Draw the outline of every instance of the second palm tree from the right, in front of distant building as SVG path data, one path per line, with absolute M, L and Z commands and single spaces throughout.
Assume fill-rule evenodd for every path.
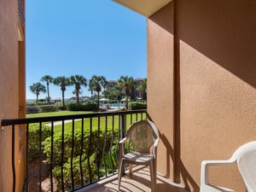
M 125 92 L 125 108 L 128 109 L 128 96 L 130 96 L 135 81 L 132 77 L 121 76 L 120 79 L 118 79 L 118 85 Z

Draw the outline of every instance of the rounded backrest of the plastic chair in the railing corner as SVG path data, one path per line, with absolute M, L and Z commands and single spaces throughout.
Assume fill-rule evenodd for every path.
M 153 122 L 140 120 L 130 126 L 126 137 L 131 139 L 135 151 L 149 153 L 154 142 L 158 141 L 159 133 Z

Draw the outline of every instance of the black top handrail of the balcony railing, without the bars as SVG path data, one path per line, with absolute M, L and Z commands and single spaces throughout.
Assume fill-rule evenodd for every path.
M 138 109 L 138 110 L 124 110 L 124 111 L 113 111 L 113 112 L 96 112 L 96 113 L 84 113 L 84 114 L 66 114 L 59 116 L 47 116 L 47 117 L 34 117 L 34 118 L 20 118 L 20 119 L 2 119 L 1 125 L 23 125 L 31 123 L 42 123 L 47 121 L 58 121 L 58 120 L 67 120 L 67 119 L 84 119 L 84 118 L 93 118 L 93 117 L 105 117 L 119 114 L 130 114 L 130 113 L 147 113 L 147 109 Z

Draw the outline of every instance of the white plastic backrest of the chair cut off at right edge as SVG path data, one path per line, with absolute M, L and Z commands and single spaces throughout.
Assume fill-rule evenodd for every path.
M 238 151 L 241 149 L 240 151 Z M 237 166 L 248 192 L 256 191 L 256 142 L 247 143 L 238 148 Z M 235 152 L 236 153 L 236 152 Z

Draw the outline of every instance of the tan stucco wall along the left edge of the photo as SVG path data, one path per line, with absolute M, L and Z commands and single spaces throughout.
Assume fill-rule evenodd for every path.
M 18 21 L 17 1 L 0 0 L 0 121 L 18 118 L 19 106 L 24 107 L 20 117 L 25 113 L 25 42 L 19 45 Z M 24 153 L 19 150 L 19 128 L 15 130 L 16 191 L 21 191 Z M 11 138 L 11 127 L 4 127 L 0 131 L 0 191 L 12 191 Z

